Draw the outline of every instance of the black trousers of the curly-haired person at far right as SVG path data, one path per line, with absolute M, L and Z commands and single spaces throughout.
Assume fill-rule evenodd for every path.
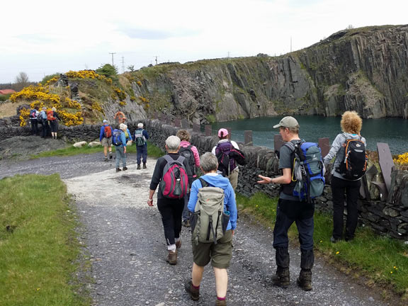
M 344 202 L 347 202 L 346 239 L 353 239 L 358 222 L 357 201 L 361 181 L 347 181 L 331 176 L 333 195 L 333 237 L 341 239 L 344 229 Z

